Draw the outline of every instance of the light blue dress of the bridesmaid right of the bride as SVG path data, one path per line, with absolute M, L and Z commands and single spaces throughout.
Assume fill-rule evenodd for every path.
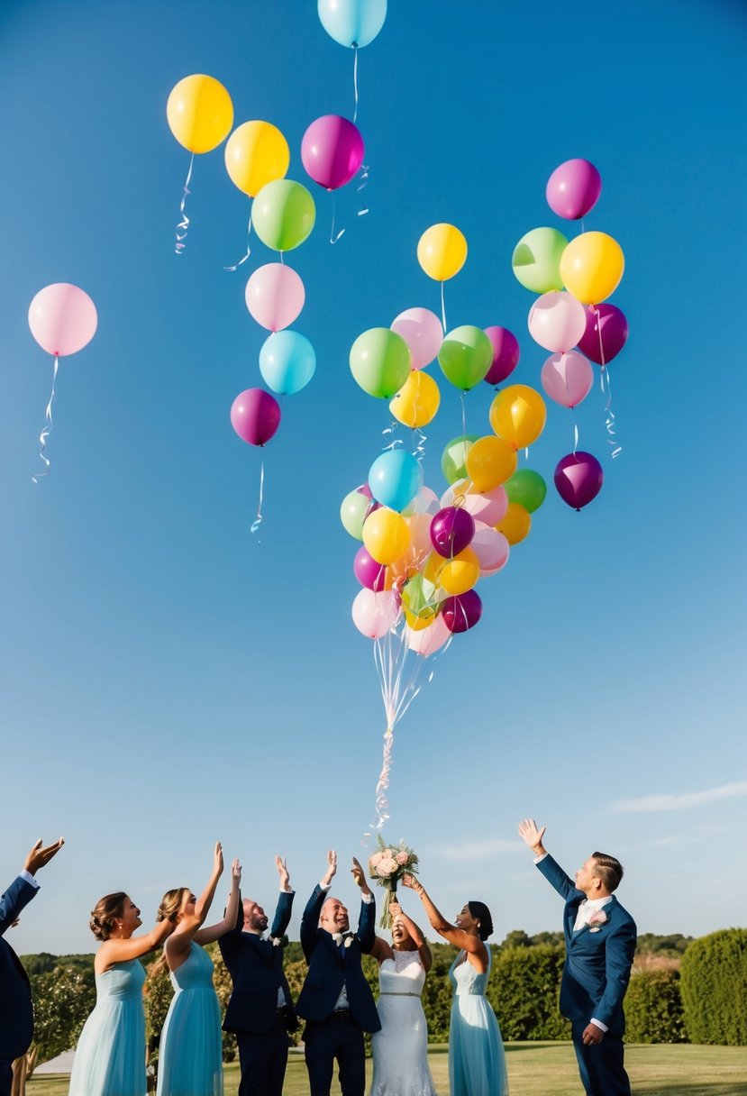
M 491 973 L 479 974 L 460 951 L 451 964 L 453 985 L 451 1026 L 449 1028 L 449 1088 L 451 1096 L 507 1096 L 508 1076 L 501 1028 L 485 997 Z M 463 961 L 462 961 L 463 960 Z

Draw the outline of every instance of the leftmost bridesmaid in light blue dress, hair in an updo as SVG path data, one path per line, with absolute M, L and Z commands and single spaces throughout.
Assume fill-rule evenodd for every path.
M 159 947 L 173 925 L 160 922 L 133 936 L 142 922 L 125 894 L 106 894 L 91 914 L 102 941 L 93 967 L 96 1006 L 81 1031 L 70 1075 L 70 1096 L 146 1096 L 146 1021 L 140 956 Z

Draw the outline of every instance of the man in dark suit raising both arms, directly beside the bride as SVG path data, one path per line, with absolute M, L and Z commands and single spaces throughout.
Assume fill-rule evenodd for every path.
M 373 994 L 360 968 L 376 939 L 376 903 L 364 869 L 353 859 L 360 888 L 358 932 L 350 931 L 347 910 L 327 892 L 337 870 L 337 854 L 327 853 L 327 870 L 314 888 L 301 918 L 301 947 L 309 973 L 298 997 L 311 1096 L 329 1096 L 334 1061 L 343 1096 L 364 1096 L 366 1053 L 364 1031 L 381 1028 Z

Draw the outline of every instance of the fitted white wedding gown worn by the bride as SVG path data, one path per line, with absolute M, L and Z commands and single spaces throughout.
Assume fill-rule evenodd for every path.
M 379 967 L 377 1008 L 381 1030 L 372 1037 L 370 1096 L 435 1096 L 428 1069 L 428 1027 L 421 1004 L 425 970 L 417 951 L 394 951 Z

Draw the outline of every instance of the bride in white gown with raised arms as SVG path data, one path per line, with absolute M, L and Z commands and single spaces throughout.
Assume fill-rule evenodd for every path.
M 428 1026 L 421 993 L 433 961 L 430 948 L 399 903 L 390 902 L 392 943 L 377 936 L 381 1030 L 372 1037 L 370 1096 L 436 1096 L 428 1069 Z

